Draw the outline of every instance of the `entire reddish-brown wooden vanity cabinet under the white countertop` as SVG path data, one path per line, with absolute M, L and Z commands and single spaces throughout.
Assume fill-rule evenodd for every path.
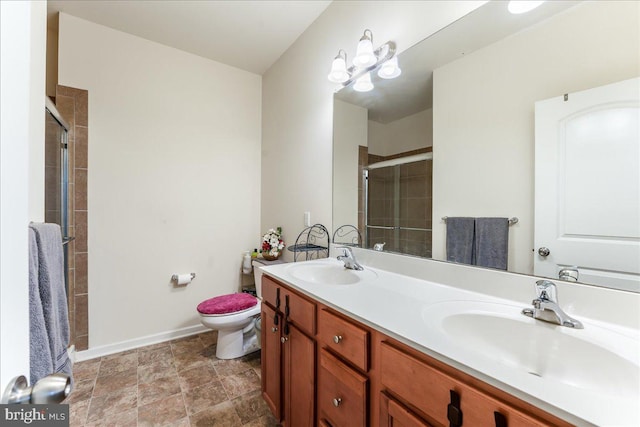
M 284 426 L 570 425 L 268 276 L 262 295 L 262 394 Z

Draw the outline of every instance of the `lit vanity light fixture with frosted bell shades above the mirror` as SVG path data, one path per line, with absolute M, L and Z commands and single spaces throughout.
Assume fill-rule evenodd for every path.
M 340 49 L 327 77 L 330 82 L 342 83 L 342 86 L 349 86 L 355 82 L 354 90 L 368 92 L 373 89 L 372 71 L 378 70 L 378 76 L 383 79 L 393 79 L 402 74 L 395 53 L 396 44 L 391 41 L 374 50 L 373 33 L 371 30 L 364 30 L 356 49 L 353 65 L 347 68 L 347 53 Z

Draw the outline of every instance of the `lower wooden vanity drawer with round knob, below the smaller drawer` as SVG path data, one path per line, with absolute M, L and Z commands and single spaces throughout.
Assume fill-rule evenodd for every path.
M 367 378 L 324 349 L 318 369 L 318 411 L 333 427 L 366 426 Z

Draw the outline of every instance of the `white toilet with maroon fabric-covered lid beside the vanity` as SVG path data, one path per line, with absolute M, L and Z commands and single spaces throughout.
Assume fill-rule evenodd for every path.
M 218 331 L 216 357 L 235 359 L 260 350 L 256 320 L 260 316 L 262 297 L 262 269 L 265 265 L 282 261 L 253 260 L 253 277 L 257 298 L 247 293 L 220 295 L 198 304 L 200 321 L 207 328 Z

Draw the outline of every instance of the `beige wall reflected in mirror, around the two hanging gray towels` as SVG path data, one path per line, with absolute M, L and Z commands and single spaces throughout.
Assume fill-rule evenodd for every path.
M 639 74 L 638 2 L 585 2 L 434 73 L 434 258 L 443 216 L 516 216 L 509 270 L 533 271 L 534 102 Z

